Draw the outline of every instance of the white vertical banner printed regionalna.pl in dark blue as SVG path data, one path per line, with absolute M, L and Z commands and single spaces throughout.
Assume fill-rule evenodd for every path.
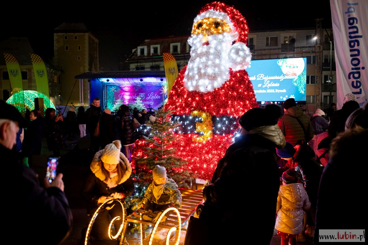
M 336 57 L 337 108 L 353 93 L 363 105 L 368 93 L 368 1 L 330 0 Z

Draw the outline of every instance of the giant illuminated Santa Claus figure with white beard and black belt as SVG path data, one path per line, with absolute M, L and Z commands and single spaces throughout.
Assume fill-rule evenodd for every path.
M 210 179 L 238 129 L 237 118 L 258 107 L 245 71 L 251 53 L 248 26 L 239 11 L 213 2 L 194 19 L 191 58 L 179 73 L 164 109 L 174 111 L 181 133 L 171 147 L 187 168 Z

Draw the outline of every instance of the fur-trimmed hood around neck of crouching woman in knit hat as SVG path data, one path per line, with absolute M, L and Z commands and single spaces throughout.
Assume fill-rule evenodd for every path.
M 123 169 L 125 171 L 123 178 L 121 180 L 118 180 L 117 176 L 105 181 L 105 176 L 102 173 L 101 167 L 102 166 L 102 161 L 101 161 L 101 156 L 103 154 L 104 150 L 100 150 L 98 152 L 96 152 L 95 156 L 92 159 L 92 163 L 91 163 L 91 170 L 92 173 L 95 174 L 95 176 L 105 182 L 107 184 L 107 186 L 109 186 L 110 188 L 113 188 L 115 186 L 117 186 L 118 184 L 124 183 L 129 177 L 130 174 L 132 173 L 132 167 L 130 166 L 130 162 L 129 160 L 124 156 L 124 154 L 122 152 L 120 152 L 120 163 L 123 165 Z

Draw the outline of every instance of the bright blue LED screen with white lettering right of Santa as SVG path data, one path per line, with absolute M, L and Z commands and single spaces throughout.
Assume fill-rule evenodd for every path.
M 305 101 L 307 59 L 253 60 L 247 68 L 257 101 Z

